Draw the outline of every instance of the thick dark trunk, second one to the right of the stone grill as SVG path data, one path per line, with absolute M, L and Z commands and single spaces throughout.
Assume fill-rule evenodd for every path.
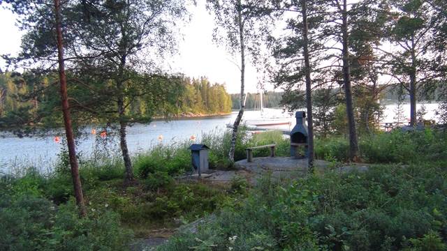
M 342 11 L 342 36 L 343 36 L 343 82 L 346 95 L 346 114 L 348 115 L 349 127 L 349 149 L 351 150 L 351 161 L 360 162 L 360 149 L 356 132 L 356 120 L 354 119 L 353 98 L 351 89 L 351 69 L 349 66 L 349 45 L 348 45 L 348 8 L 346 1 L 343 1 Z

